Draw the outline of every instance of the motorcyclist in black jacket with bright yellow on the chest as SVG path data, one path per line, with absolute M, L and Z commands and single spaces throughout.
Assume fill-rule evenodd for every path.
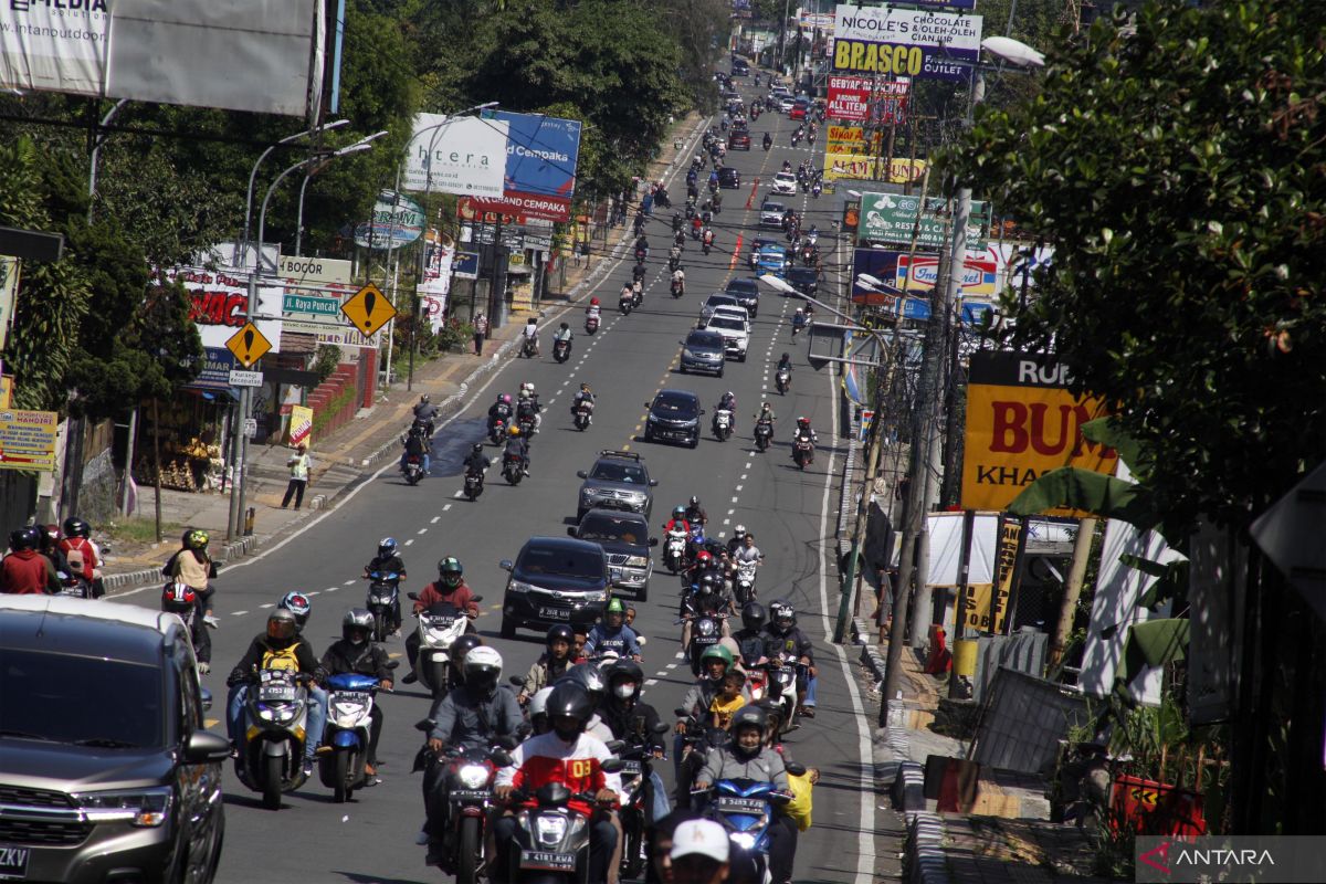
M 273 608 L 267 615 L 267 631 L 253 636 L 240 661 L 235 664 L 225 687 L 229 696 L 225 701 L 225 733 L 231 740 L 231 755 L 239 758 L 240 738 L 244 718 L 244 702 L 248 698 L 249 680 L 259 669 L 294 669 L 300 675 L 317 679 L 321 675 L 318 659 L 313 648 L 300 635 L 294 615 L 285 608 Z M 326 725 L 326 694 L 322 700 L 310 692 L 308 705 L 308 730 L 304 741 L 304 777 L 313 775 L 313 757 Z

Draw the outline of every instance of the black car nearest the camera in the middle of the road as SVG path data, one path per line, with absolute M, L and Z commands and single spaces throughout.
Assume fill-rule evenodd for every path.
M 514 639 L 516 630 L 546 630 L 554 623 L 582 626 L 598 622 L 611 591 L 603 547 L 565 537 L 532 537 L 516 562 L 503 559 L 511 571 L 501 600 L 501 637 Z

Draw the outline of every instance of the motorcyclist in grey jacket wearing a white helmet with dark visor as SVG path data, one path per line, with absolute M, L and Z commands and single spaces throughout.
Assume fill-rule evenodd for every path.
M 434 701 L 428 712 L 428 749 L 440 754 L 450 746 L 488 749 L 496 741 L 514 741 L 525 718 L 516 694 L 499 685 L 501 655 L 496 648 L 477 647 L 465 655 L 464 684 Z M 431 763 L 423 777 L 423 803 L 427 812 L 424 835 L 434 865 L 443 860 L 443 839 L 448 824 L 450 802 L 446 790 L 446 765 Z

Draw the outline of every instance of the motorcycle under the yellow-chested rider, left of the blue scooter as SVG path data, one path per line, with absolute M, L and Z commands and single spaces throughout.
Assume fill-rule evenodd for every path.
M 289 669 L 260 669 L 251 680 L 235 774 L 263 806 L 281 808 L 281 793 L 304 785 L 304 740 L 313 676 Z

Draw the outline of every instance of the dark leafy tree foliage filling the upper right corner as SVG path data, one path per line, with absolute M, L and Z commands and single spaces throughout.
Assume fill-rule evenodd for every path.
M 1055 247 L 1009 343 L 1154 455 L 1171 518 L 1246 524 L 1326 451 L 1326 7 L 1142 5 L 1050 48 L 952 166 Z

